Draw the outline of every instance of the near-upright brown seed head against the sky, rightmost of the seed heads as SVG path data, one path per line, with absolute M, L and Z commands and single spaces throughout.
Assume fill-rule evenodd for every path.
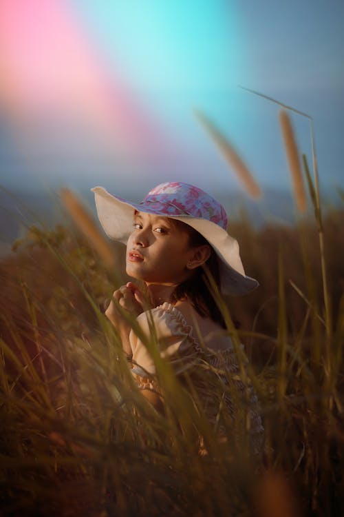
M 299 152 L 297 150 L 297 142 L 294 136 L 294 130 L 292 129 L 292 123 L 286 110 L 280 110 L 279 123 L 281 125 L 284 146 L 286 148 L 297 209 L 299 212 L 305 212 L 307 208 L 307 200 L 305 197 L 305 187 L 303 185 Z

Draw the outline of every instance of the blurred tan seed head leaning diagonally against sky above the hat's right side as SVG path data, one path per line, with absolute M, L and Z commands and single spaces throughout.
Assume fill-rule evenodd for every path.
M 248 170 L 246 163 L 241 159 L 239 154 L 234 150 L 233 146 L 224 138 L 215 125 L 199 110 L 195 110 L 197 120 L 202 124 L 206 132 L 211 136 L 219 150 L 222 152 L 224 159 L 235 170 L 239 181 L 244 185 L 246 192 L 252 198 L 261 196 L 261 190 L 257 182 Z

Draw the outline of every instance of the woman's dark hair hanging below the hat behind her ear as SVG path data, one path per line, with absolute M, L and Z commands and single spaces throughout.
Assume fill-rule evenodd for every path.
M 188 232 L 189 243 L 192 247 L 202 246 L 204 244 L 208 244 L 211 247 L 204 236 L 190 225 L 182 221 L 177 221 L 176 219 L 170 219 L 170 221 L 172 221 L 173 225 Z M 219 263 L 213 247 L 211 247 L 211 256 L 209 256 L 205 265 L 215 283 L 219 285 Z M 193 276 L 175 287 L 175 290 L 171 294 L 170 302 L 175 303 L 178 300 L 182 300 L 182 298 L 188 298 L 200 316 L 209 317 L 215 321 L 215 323 L 219 323 L 223 328 L 226 328 L 224 316 L 222 316 L 222 312 L 219 310 L 219 307 L 217 307 L 217 303 L 211 294 L 211 290 L 208 287 L 208 280 L 202 266 L 197 267 Z

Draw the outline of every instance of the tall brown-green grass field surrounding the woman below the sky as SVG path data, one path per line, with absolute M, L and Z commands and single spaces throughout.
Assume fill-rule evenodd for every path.
M 164 365 L 165 416 L 138 392 L 103 316 L 122 248 L 109 272 L 72 228 L 32 227 L 0 264 L 1 514 L 343 515 L 343 215 L 323 220 L 330 318 L 314 223 L 231 225 L 261 284 L 227 300 L 261 401 L 259 459 L 221 415 L 219 443 Z

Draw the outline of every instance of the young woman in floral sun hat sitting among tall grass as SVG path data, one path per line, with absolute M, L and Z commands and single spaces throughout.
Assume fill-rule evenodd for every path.
M 233 422 L 238 401 L 247 400 L 250 393 L 248 427 L 257 451 L 263 432 L 257 398 L 240 378 L 233 342 L 208 281 L 210 274 L 222 294 L 244 294 L 258 285 L 245 275 L 237 241 L 226 231 L 224 207 L 186 183 L 162 183 L 138 204 L 112 196 L 103 187 L 92 190 L 105 232 L 127 244 L 127 274 L 146 287 L 142 292 L 134 282 L 123 285 L 114 292 L 105 313 L 120 332 L 142 394 L 160 409 L 155 361 L 142 339 L 153 332 L 160 356 L 175 374 L 194 378 L 198 398 L 211 422 L 219 412 L 219 401 L 213 400 L 211 386 L 207 393 L 204 384 L 209 377 L 200 375 L 204 372 L 200 365 L 209 365 L 208 372 L 215 372 L 224 388 L 230 384 L 235 389 L 234 398 L 229 389 L 224 390 L 226 410 Z M 141 338 L 118 305 L 137 316 Z M 193 375 L 195 372 L 198 375 Z

